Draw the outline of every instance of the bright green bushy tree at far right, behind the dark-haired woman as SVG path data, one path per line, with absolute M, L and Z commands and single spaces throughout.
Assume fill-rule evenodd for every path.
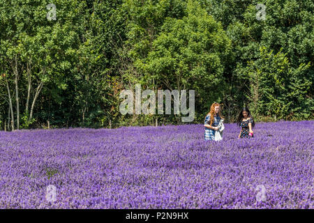
M 314 109 L 308 97 L 313 83 L 306 79 L 310 63 L 293 68 L 287 54 L 260 49 L 260 58 L 244 71 L 250 80 L 248 100 L 253 114 L 276 119 L 308 118 Z

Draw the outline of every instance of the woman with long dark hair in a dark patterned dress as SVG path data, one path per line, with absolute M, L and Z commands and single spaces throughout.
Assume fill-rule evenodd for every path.
M 255 123 L 253 117 L 251 116 L 251 112 L 250 110 L 248 110 L 247 107 L 244 107 L 240 112 L 237 123 L 241 127 L 239 139 L 244 137 L 246 138 L 253 137 L 252 129 L 254 128 Z

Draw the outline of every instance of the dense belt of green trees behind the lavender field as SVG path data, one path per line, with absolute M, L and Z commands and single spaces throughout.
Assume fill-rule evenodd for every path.
M 244 105 L 257 121 L 313 119 L 313 11 L 310 0 L 3 0 L 0 129 L 180 123 L 121 115 L 119 93 L 137 83 L 195 90 L 195 123 L 213 102 L 230 122 Z

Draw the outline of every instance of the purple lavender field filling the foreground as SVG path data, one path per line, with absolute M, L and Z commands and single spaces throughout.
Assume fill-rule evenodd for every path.
M 314 121 L 257 123 L 253 139 L 226 124 L 223 141 L 204 141 L 203 125 L 1 131 L 0 208 L 314 208 L 313 132 Z

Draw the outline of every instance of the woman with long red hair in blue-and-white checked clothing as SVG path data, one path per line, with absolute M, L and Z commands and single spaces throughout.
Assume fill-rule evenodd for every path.
M 207 116 L 205 117 L 205 140 L 215 140 L 215 133 L 218 131 L 218 124 L 223 121 L 223 116 L 220 114 L 220 105 L 213 103 Z

